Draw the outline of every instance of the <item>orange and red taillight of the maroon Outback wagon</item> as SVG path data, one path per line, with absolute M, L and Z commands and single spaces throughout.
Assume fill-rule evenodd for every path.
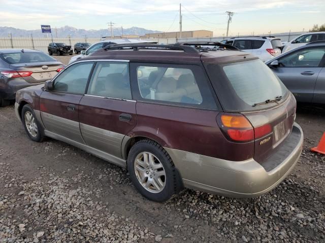
M 270 124 L 253 128 L 242 114 L 224 113 L 218 119 L 218 124 L 226 136 L 238 142 L 249 142 L 272 132 Z

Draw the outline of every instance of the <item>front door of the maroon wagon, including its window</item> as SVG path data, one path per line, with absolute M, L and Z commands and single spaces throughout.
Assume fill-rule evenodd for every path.
M 41 117 L 52 134 L 84 143 L 79 129 L 79 102 L 83 97 L 94 62 L 79 62 L 61 71 L 53 90 L 40 96 Z

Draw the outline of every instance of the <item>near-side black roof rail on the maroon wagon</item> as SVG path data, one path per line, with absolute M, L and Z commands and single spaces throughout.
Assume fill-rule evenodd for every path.
M 182 50 L 186 53 L 199 53 L 199 51 L 194 47 L 189 46 L 178 46 L 178 45 L 157 45 L 157 44 L 150 44 L 150 43 L 144 43 L 144 44 L 113 44 L 109 45 L 104 48 L 104 50 L 107 51 L 113 51 L 113 50 L 121 50 L 124 48 L 133 49 L 134 51 L 138 51 L 139 48 L 143 49 L 159 49 L 159 50 Z

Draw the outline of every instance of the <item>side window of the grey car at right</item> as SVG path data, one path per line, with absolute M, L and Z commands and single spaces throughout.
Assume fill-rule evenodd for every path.
M 282 67 L 318 67 L 325 54 L 325 48 L 304 49 L 279 59 Z

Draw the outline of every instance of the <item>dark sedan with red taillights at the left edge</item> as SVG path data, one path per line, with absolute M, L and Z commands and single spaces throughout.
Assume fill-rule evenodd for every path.
M 49 55 L 28 49 L 0 49 L 0 106 L 15 100 L 22 88 L 43 84 L 64 65 Z

